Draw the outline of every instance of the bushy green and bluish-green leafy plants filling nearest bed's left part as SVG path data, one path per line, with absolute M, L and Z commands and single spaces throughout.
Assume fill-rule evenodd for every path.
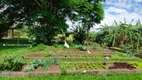
M 24 58 L 18 55 L 6 55 L 0 59 L 0 71 L 33 71 L 34 69 L 43 67 L 48 69 L 50 65 L 57 64 L 57 58 L 48 60 L 34 59 L 30 63 L 23 63 Z

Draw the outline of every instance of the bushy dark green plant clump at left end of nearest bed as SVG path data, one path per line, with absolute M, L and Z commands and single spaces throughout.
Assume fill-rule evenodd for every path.
M 19 58 L 15 58 L 17 55 L 6 55 L 1 57 L 0 71 L 10 70 L 19 71 L 22 68 L 22 63 Z

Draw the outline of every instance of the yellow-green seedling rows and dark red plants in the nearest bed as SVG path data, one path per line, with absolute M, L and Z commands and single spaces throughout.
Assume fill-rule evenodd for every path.
M 129 69 L 133 70 L 136 67 L 127 62 L 114 63 L 63 63 L 61 64 L 63 70 L 109 70 L 109 69 Z

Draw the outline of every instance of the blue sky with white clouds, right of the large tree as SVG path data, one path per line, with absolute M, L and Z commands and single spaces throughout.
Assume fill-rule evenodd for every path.
M 113 25 L 114 20 L 124 22 L 124 18 L 127 23 L 134 19 L 132 24 L 135 24 L 138 19 L 142 21 L 142 0 L 106 0 L 103 8 L 104 20 L 101 21 L 101 24 L 95 25 L 91 31 L 99 28 L 100 25 Z

